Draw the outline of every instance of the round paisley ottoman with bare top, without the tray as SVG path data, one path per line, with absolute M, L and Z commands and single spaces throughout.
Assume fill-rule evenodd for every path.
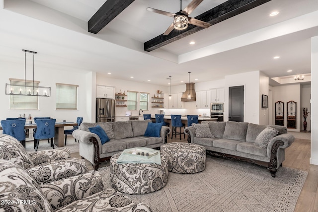
M 165 143 L 160 153 L 168 155 L 169 171 L 180 174 L 192 174 L 205 169 L 205 147 L 195 143 Z

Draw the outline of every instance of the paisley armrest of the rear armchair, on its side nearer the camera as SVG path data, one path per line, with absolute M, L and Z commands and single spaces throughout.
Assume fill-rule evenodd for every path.
M 85 160 L 71 158 L 68 160 L 57 160 L 25 170 L 39 185 L 84 174 L 88 171 Z

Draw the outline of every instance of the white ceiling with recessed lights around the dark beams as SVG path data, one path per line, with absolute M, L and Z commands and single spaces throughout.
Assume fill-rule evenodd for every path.
M 182 7 L 190 1 L 182 0 Z M 146 8 L 175 13 L 179 0 L 135 0 L 97 34 L 87 32 L 87 21 L 105 0 L 0 2 L 0 61 L 23 63 L 21 50 L 27 49 L 39 53 L 40 67 L 111 72 L 109 77 L 159 85 L 169 75 L 171 85 L 187 82 L 188 71 L 195 82 L 257 70 L 269 77 L 310 73 L 310 38 L 318 35 L 318 0 L 271 0 L 148 53 L 144 42 L 162 34 L 172 18 Z M 223 2 L 204 0 L 189 16 Z M 270 17 L 274 10 L 280 13 Z

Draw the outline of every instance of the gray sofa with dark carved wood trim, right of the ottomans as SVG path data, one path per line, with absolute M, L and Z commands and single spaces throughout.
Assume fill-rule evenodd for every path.
M 285 148 L 295 140 L 293 135 L 287 134 L 287 128 L 283 126 L 263 126 L 231 121 L 203 121 L 201 124 L 208 125 L 212 137 L 215 138 L 198 138 L 196 130 L 199 126 L 191 126 L 185 128 L 185 134 L 190 137 L 189 142 L 203 145 L 207 153 L 214 156 L 239 159 L 264 166 L 270 171 L 272 177 L 275 177 L 277 169 L 285 160 Z M 265 133 L 268 129 L 276 131 L 277 136 L 266 137 Z M 197 131 L 197 133 L 200 132 Z M 258 142 L 264 138 L 264 135 L 263 140 L 268 140 L 268 143 L 259 145 Z

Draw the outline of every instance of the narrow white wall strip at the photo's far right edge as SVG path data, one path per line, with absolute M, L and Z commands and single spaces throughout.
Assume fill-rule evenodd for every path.
M 318 165 L 318 36 L 312 38 L 312 120 L 311 120 L 311 159 Z

